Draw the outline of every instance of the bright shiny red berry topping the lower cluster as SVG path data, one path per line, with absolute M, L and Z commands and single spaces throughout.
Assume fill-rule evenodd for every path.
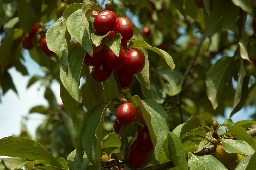
M 123 103 L 118 107 L 115 116 L 121 125 L 129 125 L 135 118 L 135 108 L 131 103 Z

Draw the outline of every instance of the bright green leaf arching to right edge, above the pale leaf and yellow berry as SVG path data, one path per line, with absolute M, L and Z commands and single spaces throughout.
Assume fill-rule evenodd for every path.
M 253 149 L 256 149 L 256 145 L 254 143 L 252 136 L 249 135 L 241 127 L 237 127 L 237 126 L 231 125 L 231 124 L 221 124 L 221 125 L 226 126 L 228 128 L 228 132 L 232 133 L 237 140 L 245 141 L 246 143 L 251 145 L 253 147 Z

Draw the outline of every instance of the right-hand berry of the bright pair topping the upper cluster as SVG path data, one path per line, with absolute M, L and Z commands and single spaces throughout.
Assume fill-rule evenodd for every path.
M 127 18 L 117 18 L 114 29 L 116 32 L 121 34 L 121 36 L 123 37 L 122 41 L 128 41 L 133 36 L 133 26 L 131 21 L 129 21 L 129 19 Z

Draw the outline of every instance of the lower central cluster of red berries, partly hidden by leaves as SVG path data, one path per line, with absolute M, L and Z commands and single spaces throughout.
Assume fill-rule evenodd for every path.
M 138 106 L 135 109 L 128 102 L 121 104 L 116 112 L 113 129 L 115 133 L 119 134 L 122 126 L 132 123 L 135 117 L 144 127 L 139 130 L 137 139 L 131 145 L 128 152 L 128 162 L 132 167 L 141 168 L 147 163 L 150 151 L 153 149 L 152 140 L 148 127 L 143 119 L 141 108 Z

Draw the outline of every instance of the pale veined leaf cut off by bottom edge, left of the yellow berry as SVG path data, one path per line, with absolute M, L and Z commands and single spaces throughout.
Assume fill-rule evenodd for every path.
M 191 170 L 227 170 L 225 166 L 211 155 L 196 156 L 188 152 L 188 167 Z

